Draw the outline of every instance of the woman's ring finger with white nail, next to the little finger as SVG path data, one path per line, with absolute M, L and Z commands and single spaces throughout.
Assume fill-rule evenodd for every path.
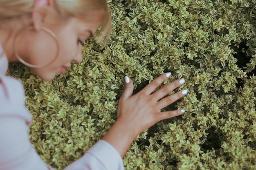
M 171 96 L 165 97 L 164 99 L 160 100 L 157 103 L 157 107 L 159 108 L 159 110 L 161 110 L 162 108 L 165 108 L 166 106 L 172 104 L 176 100 L 184 97 L 187 93 L 188 93 L 188 91 L 186 89 L 184 89 L 182 91 L 178 91 L 177 93 L 175 93 Z

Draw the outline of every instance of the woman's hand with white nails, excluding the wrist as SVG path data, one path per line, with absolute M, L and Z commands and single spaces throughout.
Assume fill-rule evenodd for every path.
M 129 82 L 127 81 L 125 91 L 119 100 L 117 119 L 123 121 L 124 124 L 132 124 L 136 135 L 139 135 L 158 121 L 184 113 L 185 110 L 160 111 L 162 108 L 186 95 L 187 91 L 183 90 L 161 99 L 175 88 L 184 84 L 184 79 L 176 80 L 153 93 L 170 75 L 171 73 L 165 73 L 157 77 L 157 79 L 154 79 L 144 89 L 133 96 L 133 84 L 130 78 L 126 77 L 126 80 L 129 80 Z

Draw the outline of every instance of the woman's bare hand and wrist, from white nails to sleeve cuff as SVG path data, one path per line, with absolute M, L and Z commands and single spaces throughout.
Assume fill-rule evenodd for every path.
M 182 90 L 163 98 L 175 88 L 184 84 L 184 79 L 175 80 L 153 93 L 170 76 L 171 73 L 165 73 L 157 77 L 135 95 L 132 95 L 134 87 L 131 79 L 126 77 L 126 88 L 119 100 L 117 121 L 103 137 L 103 140 L 112 144 L 122 157 L 132 141 L 141 132 L 153 126 L 158 121 L 175 117 L 185 112 L 184 109 L 166 112 L 160 111 L 187 93 L 186 90 Z

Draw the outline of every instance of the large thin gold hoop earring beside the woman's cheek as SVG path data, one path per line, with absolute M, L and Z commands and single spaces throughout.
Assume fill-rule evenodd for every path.
M 56 53 L 54 59 L 53 59 L 52 61 L 50 61 L 49 63 L 47 63 L 47 64 L 44 64 L 44 65 L 33 65 L 33 64 L 29 64 L 28 62 L 25 62 L 25 61 L 20 57 L 20 55 L 18 54 L 18 52 L 17 52 L 17 50 L 16 50 L 16 43 L 15 43 L 15 42 L 16 42 L 16 38 L 18 37 L 18 35 L 19 35 L 22 31 L 25 31 L 25 30 L 34 30 L 34 27 L 33 27 L 33 26 L 29 26 L 29 27 L 27 27 L 26 29 L 20 30 L 20 31 L 16 34 L 16 37 L 14 38 L 14 45 L 13 45 L 13 48 L 14 48 L 15 56 L 18 58 L 18 60 L 19 60 L 21 63 L 23 63 L 23 64 L 25 64 L 26 66 L 29 66 L 29 67 L 31 67 L 31 68 L 42 68 L 42 67 L 47 66 L 48 64 L 52 63 L 52 62 L 57 58 L 58 53 L 59 53 L 59 49 L 60 49 L 57 36 L 56 36 L 51 30 L 49 30 L 49 29 L 47 29 L 47 28 L 45 28 L 45 27 L 43 27 L 43 26 L 42 26 L 40 29 L 43 30 L 43 31 L 45 31 L 45 32 L 48 33 L 49 35 L 51 35 L 52 38 L 54 39 L 54 41 L 55 41 L 56 44 L 57 44 L 57 53 Z

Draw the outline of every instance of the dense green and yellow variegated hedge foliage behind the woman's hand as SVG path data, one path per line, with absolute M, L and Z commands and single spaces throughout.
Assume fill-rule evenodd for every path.
M 61 170 L 103 137 L 115 122 L 125 75 L 137 93 L 170 71 L 164 84 L 183 77 L 189 94 L 163 110 L 186 113 L 141 133 L 125 168 L 255 170 L 256 0 L 108 2 L 110 43 L 88 40 L 83 62 L 65 75 L 43 82 L 10 65 L 25 86 L 34 118 L 29 134 L 42 159 Z

